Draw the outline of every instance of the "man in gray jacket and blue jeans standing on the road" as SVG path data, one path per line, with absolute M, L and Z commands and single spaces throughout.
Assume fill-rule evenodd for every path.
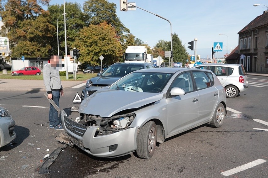
M 43 79 L 47 90 L 48 99 L 52 99 L 59 107 L 59 97 L 63 96 L 63 89 L 59 77 L 59 56 L 51 56 L 50 63 L 46 64 L 43 68 Z M 50 104 L 49 110 L 49 128 L 55 128 L 56 130 L 63 130 L 61 120 L 59 119 L 58 111 Z

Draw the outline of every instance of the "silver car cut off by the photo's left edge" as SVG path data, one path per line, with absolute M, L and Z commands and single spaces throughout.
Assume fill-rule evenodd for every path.
M 9 144 L 16 138 L 14 128 L 15 121 L 10 113 L 6 108 L 0 107 L 0 147 Z

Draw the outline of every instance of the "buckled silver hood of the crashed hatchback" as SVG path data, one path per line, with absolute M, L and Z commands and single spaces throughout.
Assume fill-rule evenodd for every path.
M 159 101 L 163 93 L 130 92 L 102 88 L 83 100 L 79 113 L 111 117 L 120 111 Z

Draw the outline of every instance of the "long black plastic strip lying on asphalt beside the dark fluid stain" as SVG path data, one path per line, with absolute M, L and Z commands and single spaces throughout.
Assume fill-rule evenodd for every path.
M 56 158 L 59 156 L 60 151 L 62 149 L 67 148 L 67 146 L 64 147 L 59 147 L 57 149 L 55 149 L 49 156 L 49 158 L 47 160 L 45 160 L 45 162 L 42 164 L 42 166 L 40 167 L 38 173 L 39 174 L 49 174 L 49 166 L 52 165 L 52 163 L 56 160 Z

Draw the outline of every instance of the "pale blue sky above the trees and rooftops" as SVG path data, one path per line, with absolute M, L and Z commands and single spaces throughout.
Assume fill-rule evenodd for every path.
M 65 0 L 77 2 L 81 7 L 85 1 Z M 120 0 L 108 2 L 116 4 L 116 14 L 131 34 L 150 47 L 161 39 L 170 41 L 172 32 L 178 35 L 189 55 L 194 55 L 194 50 L 188 49 L 187 43 L 197 39 L 196 51 L 201 58 L 211 58 L 214 42 L 223 43 L 223 51 L 215 56 L 221 58 L 227 51 L 230 54 L 238 45 L 237 33 L 268 9 L 268 0 L 128 0 L 151 13 L 139 8 L 123 12 L 120 11 Z M 49 4 L 63 3 L 64 0 L 51 0 Z M 254 4 L 261 5 L 254 7 Z M 171 25 L 155 14 L 169 20 Z

